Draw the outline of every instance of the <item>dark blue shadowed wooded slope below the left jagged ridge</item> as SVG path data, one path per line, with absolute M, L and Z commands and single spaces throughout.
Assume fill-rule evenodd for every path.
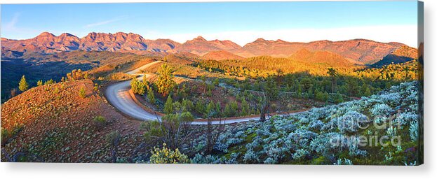
M 34 86 L 37 80 L 59 81 L 73 69 L 86 71 L 107 64 L 123 64 L 150 57 L 121 52 L 86 52 L 76 50 L 43 55 L 31 53 L 22 58 L 1 58 L 1 100 L 10 97 L 13 88 L 18 87 L 20 78 L 25 75 L 27 82 Z

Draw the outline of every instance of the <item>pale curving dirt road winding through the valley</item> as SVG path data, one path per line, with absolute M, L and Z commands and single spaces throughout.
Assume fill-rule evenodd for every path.
M 149 64 L 145 64 L 138 69 L 133 71 L 126 72 L 129 75 L 138 76 L 138 80 L 142 80 L 144 74 L 140 73 L 142 69 L 147 69 L 147 67 L 152 66 L 154 64 L 161 63 L 162 61 L 155 61 Z M 145 74 L 146 78 L 150 78 L 152 75 Z M 109 103 L 112 104 L 115 108 L 119 109 L 122 113 L 129 115 L 137 120 L 161 120 L 159 115 L 155 115 L 154 113 L 150 113 L 147 110 L 144 110 L 142 107 L 138 106 L 137 103 L 132 99 L 129 94 L 130 90 L 130 80 L 122 81 L 119 83 L 114 83 L 109 85 L 105 90 L 105 96 Z M 298 112 L 302 113 L 302 112 Z M 260 117 L 243 117 L 232 120 L 222 120 L 222 121 L 213 121 L 212 124 L 232 124 L 237 122 L 248 122 L 251 120 L 260 120 Z M 206 121 L 194 121 L 191 122 L 194 125 L 204 125 L 208 124 Z

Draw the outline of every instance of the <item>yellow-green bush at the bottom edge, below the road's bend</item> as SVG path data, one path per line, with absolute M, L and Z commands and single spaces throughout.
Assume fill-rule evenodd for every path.
M 154 148 L 151 151 L 150 163 L 152 164 L 187 164 L 189 159 L 187 155 L 182 154 L 179 149 L 171 150 L 166 148 L 166 143 L 163 143 L 162 148 Z

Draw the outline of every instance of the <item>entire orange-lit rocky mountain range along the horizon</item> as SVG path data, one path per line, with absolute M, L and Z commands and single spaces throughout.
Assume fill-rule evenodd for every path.
M 391 55 L 387 59 L 388 62 L 396 62 L 397 59 L 392 59 L 393 55 L 402 55 L 406 59 L 417 59 L 416 48 L 411 48 L 403 43 L 381 43 L 366 39 L 300 43 L 282 40 L 269 41 L 258 38 L 256 41 L 241 47 L 232 41 L 207 41 L 201 36 L 185 43 L 178 43 L 170 39 L 149 40 L 138 34 L 123 32 L 115 34 L 91 32 L 83 38 L 68 33 L 55 36 L 49 32 L 43 32 L 39 36 L 26 40 L 1 38 L 1 57 L 7 58 L 20 58 L 34 52 L 53 54 L 74 50 L 132 52 L 140 55 L 161 56 L 189 52 L 209 59 L 240 59 L 241 57 L 260 55 L 290 57 L 300 50 L 309 50 L 311 52 L 332 52 L 341 55 L 354 64 L 375 64 L 387 55 Z M 405 58 L 401 61 L 405 61 Z

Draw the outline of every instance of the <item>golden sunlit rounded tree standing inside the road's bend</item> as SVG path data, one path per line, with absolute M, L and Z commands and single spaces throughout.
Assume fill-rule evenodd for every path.
M 156 86 L 158 87 L 158 92 L 163 96 L 167 96 L 175 86 L 174 76 L 171 71 L 172 69 L 167 64 L 163 64 L 161 69 L 158 70 L 159 76 Z

